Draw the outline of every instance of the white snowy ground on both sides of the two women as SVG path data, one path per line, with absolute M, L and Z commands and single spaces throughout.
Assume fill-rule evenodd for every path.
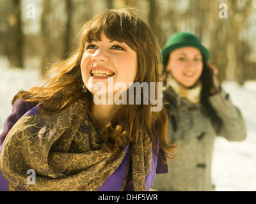
M 11 101 L 17 89 L 38 85 L 39 72 L 33 69 L 7 69 L 8 62 L 0 57 L 0 132 L 12 112 Z M 248 137 L 244 142 L 227 142 L 217 138 L 212 163 L 212 180 L 216 191 L 256 191 L 256 82 L 239 87 L 235 82 L 223 83 L 233 103 L 243 113 Z

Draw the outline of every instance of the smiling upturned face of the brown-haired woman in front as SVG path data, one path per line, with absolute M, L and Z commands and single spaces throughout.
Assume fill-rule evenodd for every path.
M 136 52 L 126 43 L 109 40 L 102 32 L 100 40 L 86 42 L 81 72 L 84 85 L 93 95 L 98 91 L 93 89 L 97 82 L 103 82 L 108 91 L 110 78 L 114 86 L 122 82 L 128 89 L 129 82 L 134 82 L 137 73 Z

